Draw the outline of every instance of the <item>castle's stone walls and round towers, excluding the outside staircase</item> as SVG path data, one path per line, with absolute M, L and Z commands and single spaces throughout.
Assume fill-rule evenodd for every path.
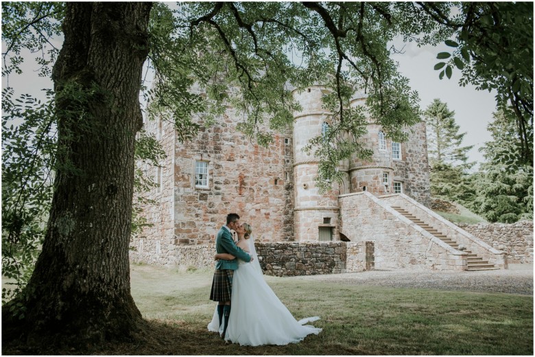
M 134 238 L 132 246 L 137 250 L 132 251 L 132 260 L 183 265 L 180 257 L 171 255 L 182 254 L 183 246 L 206 249 L 213 244 L 230 212 L 252 224 L 258 242 L 340 242 L 348 240 L 340 235 L 341 222 L 347 224 L 350 219 L 341 213 L 340 195 L 367 191 L 379 196 L 399 189 L 427 205 L 429 169 L 423 124 L 409 130 L 409 141 L 395 144 L 399 155 L 394 155 L 394 143 L 380 138 L 381 128 L 370 119 L 368 134 L 361 141 L 374 152 L 372 158 L 342 161 L 342 184 L 326 194 L 318 192 L 314 177 L 319 161 L 302 148 L 330 124 L 331 114 L 322 108 L 324 93 L 327 90 L 321 86 L 294 91 L 302 111 L 294 113 L 292 130 L 274 133 L 268 148 L 237 130 L 240 115 L 230 107 L 215 124 L 184 143 L 172 123 L 146 122 L 145 130 L 160 139 L 167 159 L 161 163 L 163 168 L 147 169 L 159 182 L 147 194 L 156 205 L 145 209 L 154 227 Z M 350 105 L 364 105 L 365 100 L 365 95 L 357 95 Z M 260 126 L 270 132 L 267 124 Z M 201 176 L 199 165 L 206 170 Z

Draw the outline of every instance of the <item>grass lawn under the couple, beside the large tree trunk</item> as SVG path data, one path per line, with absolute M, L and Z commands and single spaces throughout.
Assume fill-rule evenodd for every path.
M 224 345 L 206 330 L 212 271 L 134 265 L 132 296 L 148 332 L 104 354 L 533 355 L 532 296 L 265 278 L 296 319 L 321 317 L 313 323 L 323 328 L 319 336 L 286 346 Z

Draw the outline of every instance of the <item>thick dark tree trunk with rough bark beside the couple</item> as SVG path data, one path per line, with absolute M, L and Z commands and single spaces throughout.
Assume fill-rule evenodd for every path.
M 59 149 L 47 235 L 32 279 L 9 305 L 23 303 L 15 309 L 23 319 L 3 308 L 4 330 L 16 327 L 28 341 L 128 338 L 142 321 L 128 245 L 150 8 L 67 3 L 52 76 Z

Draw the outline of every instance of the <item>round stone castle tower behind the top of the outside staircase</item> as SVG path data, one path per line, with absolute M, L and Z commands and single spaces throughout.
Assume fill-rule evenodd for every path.
M 350 106 L 364 106 L 366 95 L 357 95 Z M 401 143 L 387 139 L 381 126 L 368 119 L 368 133 L 360 138 L 365 148 L 372 150 L 372 157 L 359 159 L 353 156 L 349 160 L 350 192 L 368 191 L 380 196 L 394 192 L 393 156 L 401 160 Z M 394 154 L 395 152 L 395 154 Z M 396 190 L 399 188 L 396 181 Z

